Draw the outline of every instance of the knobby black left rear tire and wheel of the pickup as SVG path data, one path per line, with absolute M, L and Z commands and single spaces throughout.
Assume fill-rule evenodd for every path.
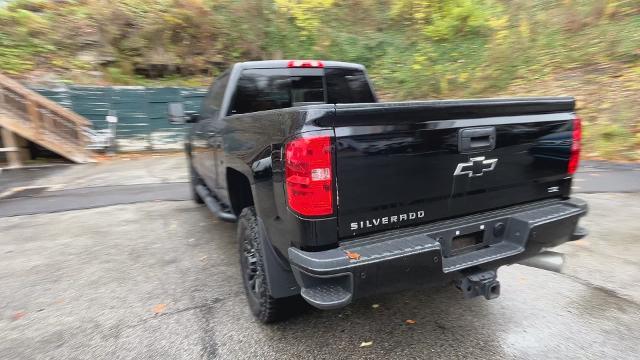
M 249 308 L 263 323 L 282 320 L 285 317 L 285 299 L 271 296 L 264 266 L 263 234 L 258 226 L 256 210 L 247 207 L 238 220 L 238 244 L 242 283 L 247 294 Z

